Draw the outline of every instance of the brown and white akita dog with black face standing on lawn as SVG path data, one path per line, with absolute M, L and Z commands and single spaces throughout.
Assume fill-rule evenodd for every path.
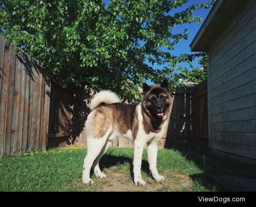
M 133 172 L 135 185 L 145 185 L 141 176 L 143 147 L 147 144 L 147 158 L 153 177 L 164 180 L 157 171 L 158 142 L 168 125 L 173 97 L 168 82 L 143 84 L 144 100 L 138 104 L 120 103 L 109 90 L 102 90 L 91 100 L 86 127 L 87 155 L 84 158 L 82 181 L 93 185 L 90 170 L 98 178 L 106 175 L 99 168 L 100 158 L 108 149 L 115 136 L 134 141 Z

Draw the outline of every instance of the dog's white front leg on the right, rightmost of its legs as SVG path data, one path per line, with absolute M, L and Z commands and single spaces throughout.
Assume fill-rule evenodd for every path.
M 159 175 L 157 171 L 157 151 L 158 147 L 156 142 L 147 144 L 147 160 L 148 164 L 150 164 L 150 170 L 152 172 L 153 177 L 157 181 L 161 181 L 164 180 L 165 178 L 164 176 Z

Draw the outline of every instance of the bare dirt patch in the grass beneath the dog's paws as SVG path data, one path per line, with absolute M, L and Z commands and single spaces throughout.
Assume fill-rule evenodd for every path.
M 104 179 L 92 177 L 94 186 L 89 187 L 83 185 L 81 180 L 74 180 L 65 185 L 63 190 L 71 190 L 71 187 L 79 191 L 187 191 L 192 186 L 191 179 L 184 174 L 165 173 L 165 180 L 162 182 L 157 182 L 150 176 L 143 176 L 146 186 L 135 186 L 130 172 L 119 170 L 116 166 L 106 169 L 104 173 L 107 176 Z

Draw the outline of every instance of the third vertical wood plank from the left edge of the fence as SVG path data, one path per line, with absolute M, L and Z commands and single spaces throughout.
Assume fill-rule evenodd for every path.
M 17 130 L 18 130 L 18 108 L 19 108 L 19 89 L 20 89 L 20 62 L 15 56 L 15 82 L 13 90 L 13 106 L 11 119 L 11 155 L 16 155 L 17 151 Z

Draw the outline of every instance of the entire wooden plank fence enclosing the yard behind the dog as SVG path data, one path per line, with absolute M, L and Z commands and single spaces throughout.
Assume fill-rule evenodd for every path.
M 93 91 L 62 88 L 41 64 L 0 36 L 0 156 L 67 144 L 85 146 Z M 207 82 L 177 88 L 160 148 L 208 151 Z M 113 147 L 133 147 L 122 137 Z

